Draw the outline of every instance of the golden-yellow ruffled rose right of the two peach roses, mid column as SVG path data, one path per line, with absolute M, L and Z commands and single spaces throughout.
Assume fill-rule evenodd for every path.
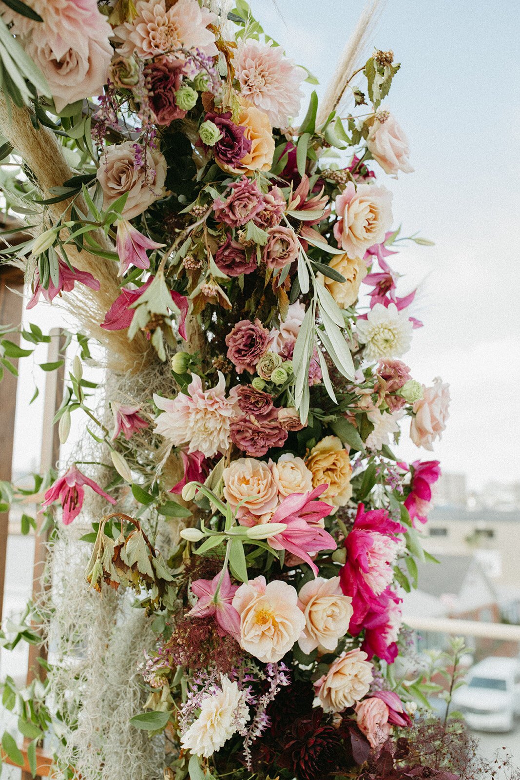
M 352 466 L 348 452 L 337 436 L 325 436 L 310 451 L 306 466 L 313 475 L 313 487 L 328 484 L 321 494 L 322 501 L 330 501 L 334 506 L 345 506 L 352 496 Z

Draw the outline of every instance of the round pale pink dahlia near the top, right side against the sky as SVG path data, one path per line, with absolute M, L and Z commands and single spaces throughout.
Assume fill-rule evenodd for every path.
M 273 127 L 286 127 L 298 115 L 306 73 L 280 46 L 249 39 L 240 46 L 234 66 L 240 93 L 267 114 Z

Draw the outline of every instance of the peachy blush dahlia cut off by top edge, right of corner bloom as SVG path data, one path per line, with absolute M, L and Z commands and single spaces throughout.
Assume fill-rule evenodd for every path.
M 161 54 L 182 56 L 179 48 L 200 49 L 210 57 L 216 55 L 215 37 L 207 27 L 217 17 L 196 0 L 137 0 L 136 16 L 131 22 L 115 27 L 115 37 L 122 41 L 118 49 L 125 56 L 135 54 L 150 59 Z

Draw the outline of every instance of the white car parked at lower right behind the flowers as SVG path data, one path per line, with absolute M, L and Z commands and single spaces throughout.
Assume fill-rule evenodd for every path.
M 470 729 L 509 732 L 520 714 L 520 661 L 491 656 L 473 666 L 467 685 L 455 691 L 453 709 L 462 712 Z

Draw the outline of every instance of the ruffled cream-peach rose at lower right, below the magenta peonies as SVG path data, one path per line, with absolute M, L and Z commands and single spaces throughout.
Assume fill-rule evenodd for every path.
M 314 683 L 325 712 L 342 712 L 366 696 L 373 676 L 372 664 L 366 658 L 366 653 L 358 649 L 343 653 Z

